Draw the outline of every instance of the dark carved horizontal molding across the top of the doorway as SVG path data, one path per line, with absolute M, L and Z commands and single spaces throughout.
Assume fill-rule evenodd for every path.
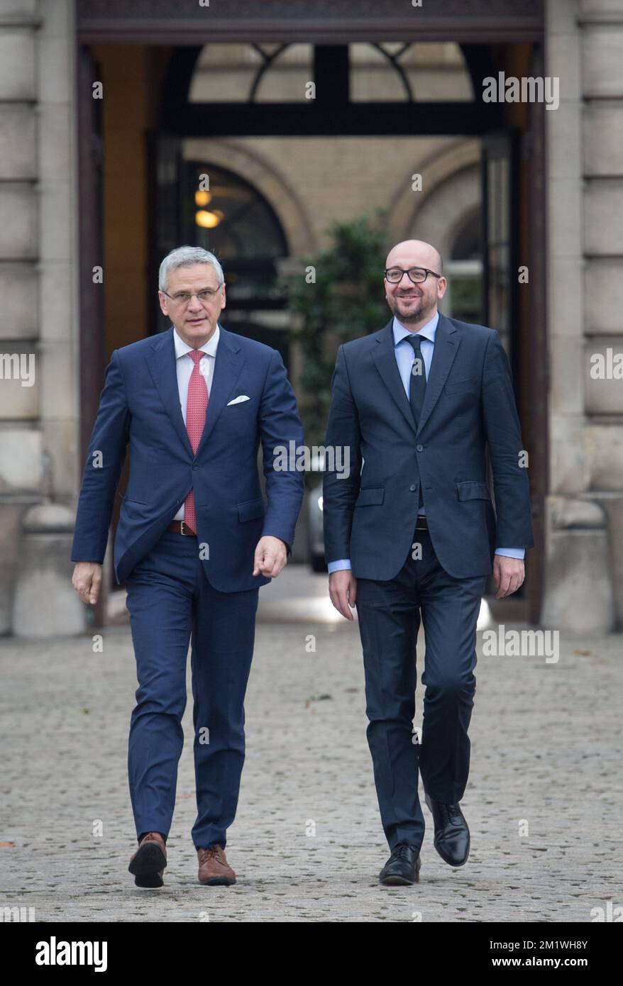
M 543 0 L 76 0 L 84 41 L 529 40 L 543 31 Z

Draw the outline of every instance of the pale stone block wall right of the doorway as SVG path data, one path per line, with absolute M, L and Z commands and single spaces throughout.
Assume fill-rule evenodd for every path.
M 623 624 L 623 380 L 591 374 L 623 352 L 623 5 L 550 2 L 546 114 L 549 496 L 543 621 Z

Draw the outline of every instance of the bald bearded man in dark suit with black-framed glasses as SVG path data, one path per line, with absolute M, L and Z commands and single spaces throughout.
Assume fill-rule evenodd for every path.
M 447 281 L 430 244 L 394 246 L 384 286 L 393 317 L 337 354 L 326 446 L 348 448 L 351 469 L 325 472 L 323 523 L 331 601 L 351 620 L 357 606 L 368 741 L 391 851 L 380 880 L 391 884 L 419 879 L 418 769 L 437 851 L 453 867 L 467 860 L 459 802 L 480 600 L 492 572 L 498 599 L 519 589 L 524 549 L 534 541 L 527 457 L 498 333 L 438 312 Z M 420 621 L 426 694 L 418 755 Z

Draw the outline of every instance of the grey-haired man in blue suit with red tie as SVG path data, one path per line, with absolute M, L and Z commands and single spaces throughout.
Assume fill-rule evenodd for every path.
M 130 474 L 114 540 L 139 688 L 128 777 L 138 886 L 162 886 L 175 801 L 191 643 L 199 881 L 236 882 L 225 856 L 244 760 L 243 699 L 259 587 L 287 561 L 303 473 L 273 462 L 303 442 L 279 353 L 219 324 L 225 281 L 207 250 L 160 268 L 165 332 L 114 350 L 78 502 L 72 583 L 95 603 L 119 474 Z M 261 443 L 267 504 L 257 469 Z

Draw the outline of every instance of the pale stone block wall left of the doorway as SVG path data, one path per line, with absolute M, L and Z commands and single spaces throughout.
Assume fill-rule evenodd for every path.
M 85 626 L 69 561 L 80 429 L 75 47 L 72 3 L 0 3 L 3 634 Z

